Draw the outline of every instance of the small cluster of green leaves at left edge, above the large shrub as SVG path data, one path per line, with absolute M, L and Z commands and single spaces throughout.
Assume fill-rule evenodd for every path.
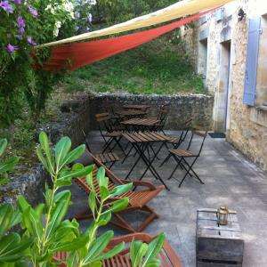
M 7 140 L 0 139 L 0 157 L 3 156 L 6 147 L 7 147 Z M 4 161 L 0 161 L 0 185 L 9 182 L 7 172 L 11 171 L 14 168 L 14 166 L 17 165 L 19 160 L 20 158 L 14 156 Z

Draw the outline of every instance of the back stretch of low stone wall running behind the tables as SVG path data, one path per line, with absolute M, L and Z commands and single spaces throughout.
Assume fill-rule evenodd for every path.
M 95 113 L 105 110 L 122 109 L 125 104 L 145 104 L 150 105 L 149 117 L 157 117 L 161 105 L 167 105 L 169 114 L 166 119 L 166 129 L 177 130 L 182 127 L 185 121 L 192 118 L 192 126 L 199 125 L 210 129 L 213 97 L 204 94 L 190 95 L 134 95 L 134 94 L 110 94 L 103 93 L 91 98 L 90 104 L 92 129 L 97 129 L 94 120 Z

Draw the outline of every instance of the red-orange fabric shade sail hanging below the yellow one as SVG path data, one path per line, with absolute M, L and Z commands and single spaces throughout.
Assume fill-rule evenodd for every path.
M 214 11 L 214 9 L 198 13 L 165 26 L 144 30 L 130 35 L 85 43 L 61 44 L 55 46 L 52 48 L 51 58 L 44 63 L 44 70 L 75 70 L 87 64 L 101 61 L 117 53 L 122 53 L 138 45 L 147 43 L 158 36 L 166 34 L 174 28 L 179 28 L 192 20 L 197 20 L 207 12 L 212 11 Z

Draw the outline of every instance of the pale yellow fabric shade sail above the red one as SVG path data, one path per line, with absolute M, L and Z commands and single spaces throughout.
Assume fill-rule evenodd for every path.
M 36 47 L 46 47 L 56 44 L 68 44 L 95 37 L 117 34 L 132 29 L 144 28 L 169 20 L 178 19 L 197 12 L 202 12 L 206 9 L 211 9 L 216 6 L 229 3 L 231 1 L 233 0 L 184 0 L 181 2 L 177 2 L 176 4 L 169 5 L 168 7 L 161 9 L 157 12 L 152 12 L 150 14 L 135 18 L 133 20 L 125 21 L 108 28 L 102 28 L 100 30 L 95 30 L 93 32 L 81 34 L 78 36 L 72 36 L 66 39 L 62 39 L 60 41 L 42 44 Z

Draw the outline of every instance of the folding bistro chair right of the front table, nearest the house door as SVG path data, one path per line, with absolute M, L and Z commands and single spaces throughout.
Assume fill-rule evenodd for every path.
M 202 138 L 202 142 L 200 144 L 198 153 L 193 153 L 190 150 L 191 147 L 191 143 L 193 140 L 193 137 L 195 135 L 198 135 Z M 174 171 L 173 173 L 169 176 L 168 180 L 171 179 L 175 173 L 175 171 L 177 170 L 178 166 L 181 166 L 184 170 L 186 170 L 186 173 L 184 174 L 182 181 L 179 183 L 179 187 L 181 187 L 182 182 L 185 180 L 185 178 L 187 177 L 187 175 L 190 175 L 191 177 L 195 177 L 198 179 L 198 181 L 202 184 L 204 184 L 204 182 L 199 178 L 198 174 L 196 174 L 196 172 L 193 170 L 193 165 L 196 163 L 198 157 L 200 156 L 201 150 L 203 148 L 204 142 L 206 140 L 206 132 L 203 131 L 192 131 L 191 137 L 190 137 L 190 142 L 188 144 L 188 147 L 186 150 L 181 150 L 181 149 L 173 149 L 173 150 L 169 150 L 170 155 L 172 157 L 174 157 L 175 161 L 177 162 L 177 165 L 174 167 Z M 186 158 L 194 158 L 193 161 L 191 163 L 189 163 Z

